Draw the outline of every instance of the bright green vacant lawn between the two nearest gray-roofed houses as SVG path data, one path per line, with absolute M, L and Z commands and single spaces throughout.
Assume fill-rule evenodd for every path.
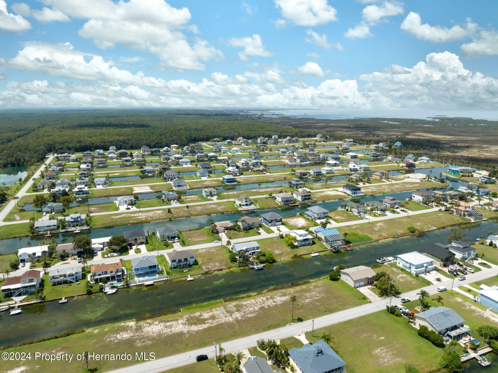
M 406 363 L 431 372 L 443 354 L 419 337 L 406 318 L 385 311 L 315 329 L 315 337 L 308 332 L 306 338 L 316 342 L 322 333 L 335 337 L 332 347 L 348 364 L 348 373 L 400 373 Z

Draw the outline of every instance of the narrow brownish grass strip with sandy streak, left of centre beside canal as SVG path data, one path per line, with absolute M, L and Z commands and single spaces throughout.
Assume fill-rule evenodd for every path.
M 148 223 L 161 220 L 190 218 L 192 216 L 216 215 L 230 211 L 237 211 L 233 203 L 218 202 L 208 203 L 205 205 L 193 205 L 175 207 L 171 209 L 171 214 L 168 214 L 166 209 L 150 210 L 142 212 L 122 213 L 116 215 L 98 215 L 92 218 L 92 228 L 113 227 L 126 225 L 129 222 L 134 224 Z M 1 228 L 0 228 L 1 230 Z

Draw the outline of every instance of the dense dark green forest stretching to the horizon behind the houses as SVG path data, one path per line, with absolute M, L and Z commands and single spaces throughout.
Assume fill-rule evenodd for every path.
M 31 165 L 47 153 L 185 146 L 213 138 L 308 136 L 310 129 L 225 111 L 47 110 L 0 113 L 0 167 Z

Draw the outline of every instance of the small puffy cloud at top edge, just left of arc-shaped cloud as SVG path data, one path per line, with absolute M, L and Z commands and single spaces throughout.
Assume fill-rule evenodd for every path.
M 380 5 L 367 5 L 362 10 L 362 21 L 355 27 L 349 28 L 344 33 L 344 36 L 350 39 L 371 37 L 373 34 L 370 32 L 370 27 L 379 22 L 384 22 L 386 17 L 402 14 L 403 11 L 403 4 L 397 1 L 384 1 Z

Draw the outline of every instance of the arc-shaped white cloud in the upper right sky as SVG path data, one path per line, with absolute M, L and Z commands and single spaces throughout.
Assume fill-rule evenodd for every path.
M 476 33 L 478 25 L 467 18 L 467 24 L 455 25 L 451 28 L 442 26 L 431 26 L 428 23 L 422 24 L 420 14 L 409 12 L 401 23 L 400 28 L 422 40 L 429 40 L 437 43 L 454 41 L 465 37 L 472 37 Z

